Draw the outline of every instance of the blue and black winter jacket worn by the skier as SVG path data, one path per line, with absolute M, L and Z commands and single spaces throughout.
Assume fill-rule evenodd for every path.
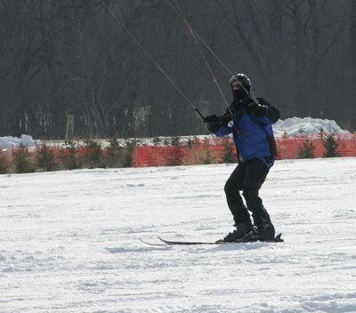
M 223 137 L 232 132 L 235 146 L 242 162 L 247 162 L 253 158 L 259 158 L 265 165 L 271 167 L 277 157 L 276 141 L 273 136 L 272 124 L 279 120 L 279 110 L 270 106 L 267 100 L 257 98 L 260 105 L 255 113 L 247 114 L 248 110 L 239 113 L 239 105 L 247 106 L 251 100 L 243 100 L 245 104 L 231 105 L 231 114 L 227 110 L 221 118 L 223 121 L 221 128 L 215 134 Z M 243 102 L 241 101 L 241 102 Z M 246 103 L 247 102 L 247 103 Z M 230 122 L 230 123 L 229 123 Z

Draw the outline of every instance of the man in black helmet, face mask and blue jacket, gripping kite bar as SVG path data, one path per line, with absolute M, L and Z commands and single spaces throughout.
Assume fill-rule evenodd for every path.
M 232 132 L 238 158 L 242 157 L 225 184 L 226 199 L 236 229 L 223 241 L 270 241 L 274 239 L 275 230 L 258 191 L 277 157 L 271 125 L 278 121 L 279 110 L 271 107 L 267 100 L 256 99 L 252 95 L 251 81 L 246 75 L 232 76 L 230 84 L 234 99 L 231 106 L 223 116 L 205 118 L 208 130 L 217 136 Z

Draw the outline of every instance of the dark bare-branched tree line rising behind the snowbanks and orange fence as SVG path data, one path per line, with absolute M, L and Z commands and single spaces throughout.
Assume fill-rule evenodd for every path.
M 228 100 L 243 72 L 282 118 L 356 129 L 356 0 L 0 0 L 0 135 L 63 138 L 69 119 L 81 138 L 206 133 L 166 78 L 223 113 L 176 3 Z

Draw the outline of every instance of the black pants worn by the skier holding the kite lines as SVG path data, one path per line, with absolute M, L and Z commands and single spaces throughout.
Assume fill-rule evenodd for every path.
M 250 214 L 255 223 L 261 219 L 270 220 L 270 215 L 263 207 L 262 199 L 258 197 L 258 190 L 263 185 L 264 180 L 269 173 L 269 168 L 258 158 L 254 158 L 247 163 L 241 162 L 231 173 L 231 176 L 225 184 L 226 199 L 233 215 L 235 223 L 250 221 Z M 246 205 L 239 194 L 246 200 Z M 248 209 L 248 210 L 247 210 Z

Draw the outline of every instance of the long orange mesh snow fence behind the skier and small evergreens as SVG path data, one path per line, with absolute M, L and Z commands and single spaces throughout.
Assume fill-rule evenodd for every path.
M 336 149 L 338 156 L 356 157 L 356 134 L 335 134 L 333 138 L 338 144 Z M 305 147 L 305 142 L 308 142 L 309 146 L 312 145 L 313 157 L 324 157 L 326 148 L 323 144 L 326 140 L 327 135 L 321 136 L 320 134 L 276 137 L 278 159 L 295 159 L 300 157 L 300 151 Z M 36 164 L 36 157 L 38 157 L 38 151 L 41 147 L 38 146 L 28 150 L 28 156 L 31 158 L 33 164 Z M 8 172 L 13 172 L 13 161 L 19 149 L 0 149 L 0 173 L 2 172 L 2 168 L 3 172 L 4 169 L 8 169 Z M 107 165 L 112 166 L 109 159 L 110 156 L 115 154 L 114 150 L 101 148 L 100 151 L 84 147 L 78 147 L 74 151 L 55 146 L 49 147 L 49 149 L 53 150 L 55 156 L 53 163 L 62 165 L 62 167 L 72 153 L 75 154 L 75 157 L 77 157 L 76 162 L 78 162 L 78 165 L 80 163 L 81 166 L 93 166 L 92 163 L 96 159 L 99 162 L 100 158 L 104 161 L 107 160 Z M 126 151 L 128 152 L 128 150 Z M 86 158 L 88 160 L 85 161 Z M 132 153 L 132 161 L 132 163 L 126 166 L 144 167 L 236 163 L 237 154 L 231 138 L 195 139 L 181 143 L 176 147 L 137 146 Z M 85 165 L 85 162 L 89 165 Z M 105 162 L 103 165 L 105 165 Z M 121 160 L 120 166 L 122 165 Z

